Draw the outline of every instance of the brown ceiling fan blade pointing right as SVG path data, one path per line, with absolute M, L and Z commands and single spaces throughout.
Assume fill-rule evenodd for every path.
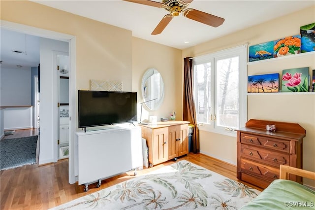
M 195 20 L 213 27 L 218 27 L 224 22 L 224 18 L 191 8 L 188 8 L 184 11 L 184 16 L 191 20 Z

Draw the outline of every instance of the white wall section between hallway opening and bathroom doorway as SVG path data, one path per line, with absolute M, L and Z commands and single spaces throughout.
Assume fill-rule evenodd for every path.
M 39 164 L 56 162 L 57 145 L 57 76 L 53 68 L 54 51 L 68 53 L 68 43 L 40 39 L 40 144 Z M 56 102 L 56 103 L 54 103 Z

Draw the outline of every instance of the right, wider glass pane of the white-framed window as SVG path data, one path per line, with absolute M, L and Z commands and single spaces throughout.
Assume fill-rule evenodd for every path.
M 217 61 L 216 125 L 238 128 L 239 122 L 239 57 Z

